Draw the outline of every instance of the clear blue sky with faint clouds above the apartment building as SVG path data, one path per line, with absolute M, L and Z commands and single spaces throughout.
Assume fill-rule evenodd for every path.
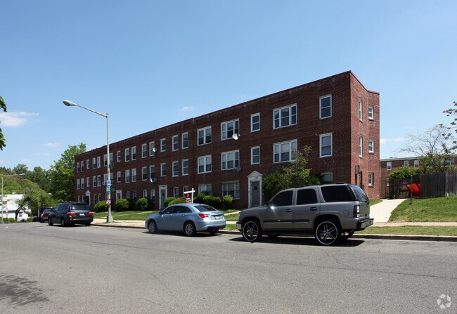
M 380 156 L 449 124 L 457 1 L 0 1 L 0 166 L 105 145 L 352 70 L 380 92 Z

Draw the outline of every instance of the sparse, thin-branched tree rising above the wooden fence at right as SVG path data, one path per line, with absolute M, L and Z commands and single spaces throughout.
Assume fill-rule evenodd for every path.
M 424 167 L 424 173 L 444 172 L 446 163 L 453 158 L 453 148 L 449 138 L 446 138 L 448 129 L 442 124 L 433 126 L 421 134 L 409 134 L 406 147 L 401 152 L 413 153 Z

